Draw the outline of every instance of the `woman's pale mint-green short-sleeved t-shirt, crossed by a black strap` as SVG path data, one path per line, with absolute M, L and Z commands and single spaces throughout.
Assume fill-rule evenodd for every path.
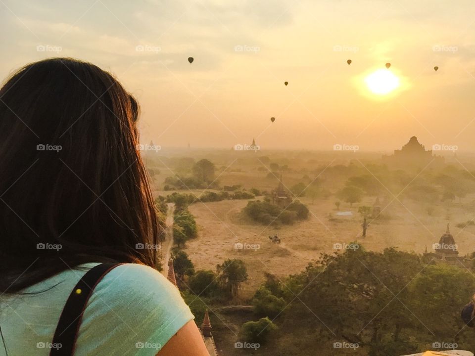
M 23 290 L 0 297 L 0 356 L 49 355 L 69 294 L 97 264 L 67 269 Z M 38 293 L 39 292 L 39 293 Z M 115 267 L 96 285 L 78 331 L 74 356 L 155 356 L 193 319 L 177 287 L 151 267 Z

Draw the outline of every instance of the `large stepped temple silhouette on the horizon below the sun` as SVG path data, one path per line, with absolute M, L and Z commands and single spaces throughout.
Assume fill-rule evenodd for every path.
M 433 155 L 432 150 L 426 150 L 416 136 L 412 136 L 400 150 L 395 150 L 393 155 L 382 156 L 382 161 L 391 169 L 440 167 L 445 162 L 443 157 Z

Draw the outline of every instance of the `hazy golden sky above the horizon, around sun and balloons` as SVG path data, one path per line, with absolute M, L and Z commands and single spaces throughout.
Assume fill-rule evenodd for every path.
M 142 141 L 162 147 L 391 150 L 416 135 L 472 151 L 474 13 L 473 0 L 0 0 L 0 77 L 91 61 L 137 96 Z M 377 98 L 363 78 L 386 62 L 403 86 Z

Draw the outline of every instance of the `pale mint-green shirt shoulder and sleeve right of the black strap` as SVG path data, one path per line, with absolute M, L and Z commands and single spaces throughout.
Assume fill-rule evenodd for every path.
M 83 314 L 76 352 L 156 355 L 192 319 L 178 288 L 160 272 L 123 264 L 96 285 Z

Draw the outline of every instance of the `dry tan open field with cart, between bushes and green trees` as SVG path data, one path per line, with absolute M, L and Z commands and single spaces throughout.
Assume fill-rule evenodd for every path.
M 456 223 L 474 219 L 473 212 L 466 208 L 437 206 L 433 216 L 429 216 L 426 206 L 409 199 L 402 201 L 402 204 L 395 200 L 370 225 L 366 238 L 362 238 L 357 205 L 350 208 L 342 204 L 340 211 L 352 211 L 353 216 L 337 217 L 334 215 L 337 212 L 334 200 L 331 197 L 312 203 L 310 198 L 302 198 L 301 201 L 311 212 L 308 221 L 280 229 L 254 224 L 243 218 L 240 211 L 247 200 L 193 204 L 190 212 L 198 224 L 198 238 L 187 243 L 186 251 L 196 269 L 215 270 L 216 265 L 226 259 L 243 260 L 249 274 L 249 279 L 241 287 L 241 297 L 246 299 L 264 280 L 264 272 L 285 278 L 318 259 L 321 252 L 336 251 L 334 244 L 358 241 L 366 249 L 375 251 L 395 246 L 416 253 L 423 253 L 427 247 L 430 252 L 432 244 L 438 242 L 449 222 L 460 255 L 475 250 L 475 227 L 462 230 L 455 226 Z M 472 201 L 473 197 L 466 200 Z M 372 203 L 373 198 L 362 202 L 365 205 Z M 329 219 L 329 214 L 332 219 Z M 268 236 L 274 234 L 282 239 L 281 244 L 269 241 Z M 237 243 L 259 245 L 259 249 L 236 249 Z

